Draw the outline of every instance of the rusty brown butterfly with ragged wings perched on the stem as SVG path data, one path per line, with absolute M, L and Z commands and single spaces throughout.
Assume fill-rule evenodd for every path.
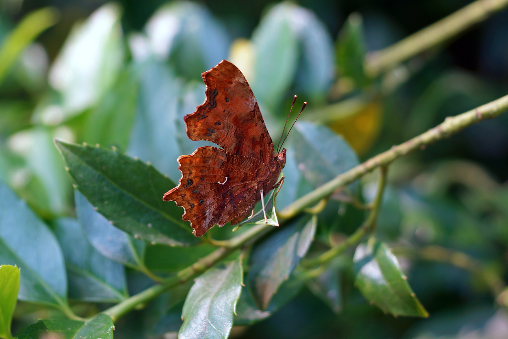
M 285 149 L 275 154 L 256 98 L 234 64 L 223 60 L 201 76 L 206 99 L 183 118 L 187 136 L 223 149 L 199 147 L 178 157 L 182 177 L 163 197 L 184 208 L 182 219 L 196 236 L 245 219 L 261 194 L 277 186 L 286 156 Z

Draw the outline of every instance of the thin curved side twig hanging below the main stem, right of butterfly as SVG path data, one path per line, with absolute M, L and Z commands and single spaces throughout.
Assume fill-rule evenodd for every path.
M 381 207 L 381 203 L 383 202 L 383 192 L 386 187 L 386 178 L 387 178 L 387 168 L 386 166 L 379 167 L 379 179 L 377 180 L 377 192 L 372 201 L 372 210 L 367 217 L 367 220 L 350 236 L 347 237 L 346 240 L 332 247 L 325 253 L 317 256 L 316 258 L 308 259 L 302 261 L 302 265 L 305 267 L 312 267 L 316 265 L 322 265 L 335 258 L 337 255 L 344 252 L 348 247 L 358 244 L 362 238 L 369 232 L 373 232 L 375 230 L 377 214 L 379 213 L 379 209 Z

